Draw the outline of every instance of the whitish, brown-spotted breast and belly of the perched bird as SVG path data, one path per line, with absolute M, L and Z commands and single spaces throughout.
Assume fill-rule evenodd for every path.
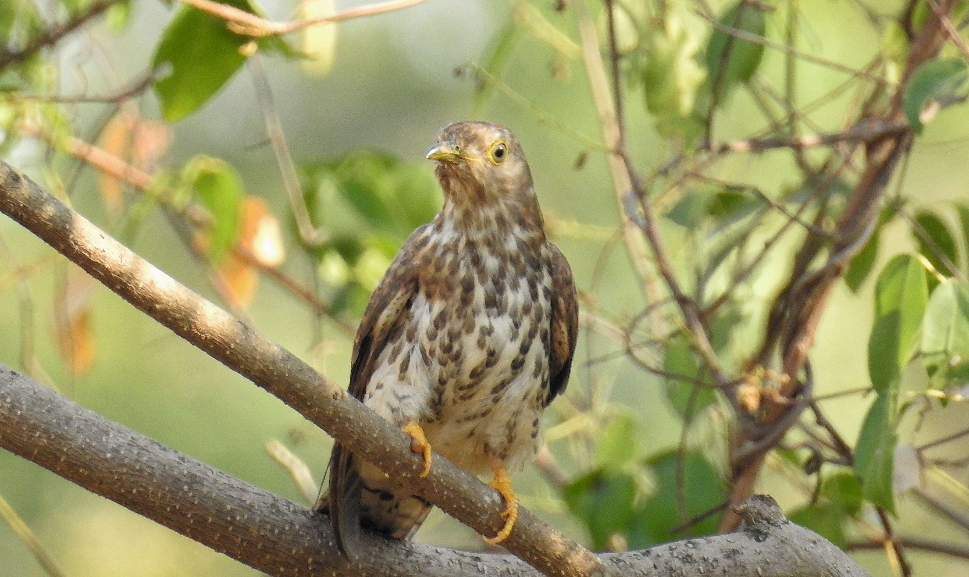
M 521 231 L 516 229 L 515 232 Z M 437 238 L 441 240 L 449 237 L 453 239 L 457 235 L 453 228 L 439 229 L 437 234 L 440 235 Z M 509 234 L 505 244 L 505 250 L 515 254 L 516 234 Z M 486 276 L 490 278 L 498 270 L 499 258 L 485 251 L 482 245 L 478 246 L 487 272 Z M 464 251 L 458 251 L 458 254 L 464 256 L 457 274 L 457 278 L 460 279 L 466 274 L 471 274 L 468 271 L 472 270 L 472 264 Z M 437 349 L 440 354 L 447 328 L 438 331 L 434 341 L 427 338 L 428 329 L 443 308 L 450 307 L 453 310 L 459 308 L 461 289 L 458 282 L 455 284 L 453 294 L 437 295 L 433 301 L 428 302 L 421 293 L 417 295 L 412 304 L 413 322 L 417 323 L 416 343 L 406 345 L 401 356 L 392 363 L 389 362 L 391 348 L 388 347 L 382 351 L 368 383 L 368 393 L 364 403 L 397 426 L 403 426 L 408 422 L 421 424 L 431 446 L 467 471 L 483 474 L 490 471 L 491 465 L 495 462 L 509 470 L 520 469 L 534 456 L 538 448 L 541 435 L 538 438 L 532 437 L 533 423 L 540 418 L 544 398 L 547 395 L 547 388 L 543 388 L 541 383 L 548 379 L 548 351 L 540 335 L 542 328 L 550 329 L 550 303 L 544 300 L 544 289 L 550 289 L 551 278 L 547 270 L 535 271 L 533 274 L 538 275 L 539 290 L 538 299 L 532 303 L 532 307 L 542 308 L 542 326 L 538 327 L 532 345 L 524 355 L 524 363 L 517 372 L 513 371 L 512 364 L 518 355 L 522 341 L 528 339 L 535 318 L 534 313 L 527 319 L 521 319 L 519 315 L 522 306 L 532 300 L 528 283 L 524 279 L 521 279 L 517 287 L 514 282 L 506 283 L 507 306 L 501 315 L 485 307 L 485 290 L 492 289 L 492 285 L 488 283 L 483 286 L 476 283 L 474 302 L 472 306 L 464 309 L 466 314 L 475 315 L 476 330 L 470 334 L 461 333 L 459 346 L 463 354 L 456 363 L 447 365 L 445 373 L 448 382 L 445 385 L 446 392 L 440 418 L 435 418 L 432 414 L 430 408 L 438 388 L 441 368 L 437 363 L 436 355 L 432 358 L 430 366 L 425 365 L 420 346 L 428 350 Z M 508 278 L 514 277 L 514 269 L 510 269 Z M 516 319 L 519 320 L 520 327 L 516 337 L 513 338 Z M 448 326 L 453 326 L 453 323 L 460 323 L 462 320 L 463 317 L 452 316 Z M 480 336 L 478 327 L 482 325 L 490 325 L 493 328 L 491 334 L 485 338 L 484 349 L 478 346 Z M 458 344 L 455 342 L 454 346 L 457 347 Z M 457 390 L 457 387 L 470 381 L 471 371 L 485 361 L 488 348 L 497 350 L 498 356 L 493 366 L 486 370 L 485 379 L 473 389 Z M 404 355 L 410 355 L 410 362 L 406 380 L 401 381 L 399 363 Z M 538 379 L 534 376 L 536 364 L 540 365 Z M 513 373 L 516 373 L 514 380 L 511 380 L 499 394 L 493 394 L 494 386 Z M 378 383 L 383 383 L 384 386 L 378 389 Z M 464 398 L 458 399 L 461 395 L 464 395 Z M 478 414 L 489 407 L 491 410 L 486 416 L 465 420 L 465 417 Z M 511 426 L 513 422 L 514 428 Z

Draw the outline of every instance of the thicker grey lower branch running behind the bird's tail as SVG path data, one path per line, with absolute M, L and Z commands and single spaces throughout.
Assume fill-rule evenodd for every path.
M 326 516 L 147 439 L 0 365 L 0 446 L 172 531 L 273 576 L 470 577 L 538 573 L 511 555 L 364 534 L 358 563 L 337 553 Z M 604 555 L 623 575 L 868 577 L 769 498 L 739 510 L 745 531 Z

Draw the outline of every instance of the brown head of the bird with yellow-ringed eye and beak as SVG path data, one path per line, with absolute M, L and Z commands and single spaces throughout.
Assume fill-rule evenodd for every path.
M 427 158 L 437 162 L 437 178 L 453 202 L 490 204 L 534 197 L 525 154 L 503 126 L 453 122 L 434 137 Z

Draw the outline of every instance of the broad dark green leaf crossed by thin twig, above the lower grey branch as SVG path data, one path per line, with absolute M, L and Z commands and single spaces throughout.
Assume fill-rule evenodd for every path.
M 651 468 L 656 477 L 656 493 L 638 509 L 630 520 L 627 536 L 630 549 L 641 549 L 687 535 L 703 535 L 717 531 L 719 514 L 709 515 L 693 525 L 685 533 L 673 533 L 673 529 L 686 519 L 705 513 L 719 505 L 726 497 L 717 472 L 696 453 L 686 453 L 683 459 L 683 495 L 685 496 L 685 518 L 680 516 L 676 505 L 677 451 L 661 453 L 644 464 Z

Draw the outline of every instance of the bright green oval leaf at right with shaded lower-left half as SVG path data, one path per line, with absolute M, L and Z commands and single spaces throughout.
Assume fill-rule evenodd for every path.
M 897 381 L 911 358 L 927 300 L 919 258 L 892 258 L 875 286 L 875 324 L 868 341 L 868 375 L 879 393 Z

